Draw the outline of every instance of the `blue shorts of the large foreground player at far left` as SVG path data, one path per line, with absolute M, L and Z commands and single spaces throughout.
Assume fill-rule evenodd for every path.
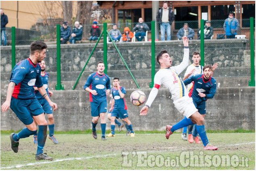
M 32 116 L 44 113 L 44 110 L 36 98 L 15 99 L 11 98 L 10 108 L 25 125 L 33 123 Z

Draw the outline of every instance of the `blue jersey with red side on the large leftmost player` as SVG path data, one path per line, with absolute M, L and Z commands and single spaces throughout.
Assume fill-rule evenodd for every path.
M 42 87 L 40 65 L 33 64 L 29 58 L 16 64 L 10 75 L 10 82 L 15 83 L 12 97 L 15 99 L 29 99 L 35 97 L 34 85 Z

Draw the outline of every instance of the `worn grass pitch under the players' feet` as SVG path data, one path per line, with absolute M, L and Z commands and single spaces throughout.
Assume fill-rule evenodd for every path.
M 97 131 L 98 132 L 98 131 Z M 109 132 L 109 131 L 107 131 Z M 122 131 L 123 132 L 123 131 Z M 135 132 L 136 133 L 136 132 Z M 36 161 L 33 137 L 21 139 L 19 152 L 10 148 L 10 134 L 1 133 L 0 169 L 252 169 L 255 170 L 254 133 L 208 133 L 216 151 L 181 140 L 173 134 L 116 133 L 106 141 L 91 134 L 55 134 L 59 144 L 47 138 L 44 152 L 53 161 Z

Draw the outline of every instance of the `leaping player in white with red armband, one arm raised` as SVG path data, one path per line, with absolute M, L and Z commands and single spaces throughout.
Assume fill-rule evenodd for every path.
M 164 87 L 170 91 L 172 95 L 171 99 L 173 99 L 176 109 L 187 117 L 173 126 L 167 125 L 165 129 L 165 137 L 169 139 L 169 136 L 173 134 L 175 130 L 196 124 L 196 129 L 204 144 L 204 150 L 217 150 L 217 147 L 209 144 L 204 130 L 204 117 L 198 113 L 198 109 L 196 109 L 192 98 L 188 96 L 187 89 L 179 76 L 179 74 L 188 66 L 189 47 L 187 37 L 183 38 L 183 45 L 183 60 L 178 66 L 171 67 L 172 61 L 166 50 L 162 50 L 158 54 L 156 61 L 160 64 L 160 70 L 154 77 L 154 87 L 150 92 L 146 105 L 141 109 L 140 115 L 146 115 L 148 113 L 148 109 L 156 98 L 160 85 L 163 84 Z

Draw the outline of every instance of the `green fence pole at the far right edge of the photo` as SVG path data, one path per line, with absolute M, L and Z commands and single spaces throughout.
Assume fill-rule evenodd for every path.
M 251 80 L 249 86 L 255 87 L 254 78 L 254 18 L 250 17 L 250 50 L 251 50 Z

